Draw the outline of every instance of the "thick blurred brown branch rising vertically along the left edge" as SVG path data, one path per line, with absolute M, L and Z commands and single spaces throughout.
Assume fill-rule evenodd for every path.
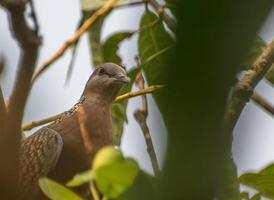
M 21 122 L 40 44 L 25 19 L 25 1 L 5 1 L 13 35 L 21 49 L 15 85 L 9 100 L 5 131 L 1 132 L 1 198 L 17 199 Z

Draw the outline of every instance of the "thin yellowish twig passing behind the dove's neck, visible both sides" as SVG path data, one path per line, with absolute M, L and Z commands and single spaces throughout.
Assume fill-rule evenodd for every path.
M 148 88 L 138 90 L 136 92 L 129 92 L 129 93 L 123 94 L 121 96 L 118 96 L 115 99 L 115 103 L 119 103 L 119 102 L 122 102 L 124 100 L 129 99 L 129 98 L 140 96 L 142 94 L 152 93 L 152 92 L 154 92 L 155 90 L 157 90 L 161 87 L 163 87 L 163 86 L 161 86 L 161 85 L 152 85 Z M 62 114 L 63 113 L 60 113 L 60 114 L 57 114 L 57 115 L 54 115 L 54 116 L 51 116 L 51 117 L 48 117 L 48 118 L 45 118 L 45 119 L 41 119 L 41 120 L 38 120 L 38 121 L 33 121 L 33 122 L 30 122 L 30 123 L 24 124 L 24 125 L 22 125 L 21 129 L 22 129 L 22 131 L 28 131 L 28 130 L 31 130 L 35 127 L 42 126 L 44 124 L 48 124 L 48 123 L 58 119 L 59 117 L 61 117 Z

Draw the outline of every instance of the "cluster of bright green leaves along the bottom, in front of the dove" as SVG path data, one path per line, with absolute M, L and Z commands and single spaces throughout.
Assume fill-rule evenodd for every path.
M 120 150 L 107 146 L 96 154 L 92 169 L 76 174 L 67 186 L 77 187 L 95 181 L 104 197 L 112 199 L 132 186 L 138 172 L 138 164 L 133 159 L 125 158 Z M 142 172 L 139 174 L 144 177 Z M 42 191 L 52 200 L 61 200 L 64 197 L 67 200 L 81 199 L 68 188 L 48 178 L 41 178 L 39 183 Z

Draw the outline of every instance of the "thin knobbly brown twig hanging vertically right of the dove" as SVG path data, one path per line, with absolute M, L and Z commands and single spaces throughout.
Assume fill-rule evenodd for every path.
M 142 75 L 142 72 L 139 73 L 136 84 L 139 86 L 139 88 L 142 90 L 145 87 L 145 80 Z M 153 146 L 151 134 L 147 125 L 147 116 L 148 116 L 148 104 L 147 104 L 147 96 L 145 94 L 142 95 L 142 109 L 136 110 L 134 112 L 134 117 L 136 121 L 138 122 L 139 126 L 142 129 L 146 145 L 147 145 L 147 152 L 151 161 L 152 169 L 155 174 L 155 176 L 160 176 L 160 168 L 157 160 L 157 156 L 155 153 L 155 149 Z

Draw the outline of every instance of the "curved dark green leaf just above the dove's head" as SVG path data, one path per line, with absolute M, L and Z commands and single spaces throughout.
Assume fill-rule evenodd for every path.
M 110 36 L 103 44 L 104 62 L 121 64 L 122 60 L 117 55 L 119 44 L 132 36 L 134 32 L 120 32 Z

